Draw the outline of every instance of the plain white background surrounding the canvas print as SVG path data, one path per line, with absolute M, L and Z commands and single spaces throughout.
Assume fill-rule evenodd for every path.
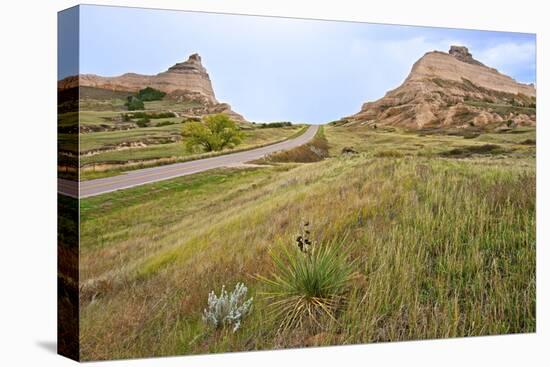
M 550 360 L 550 26 L 523 0 L 98 0 L 97 4 L 536 32 L 537 333 L 107 362 L 110 366 L 539 366 Z M 65 366 L 56 339 L 56 12 L 76 1 L 6 0 L 0 11 L 0 365 Z M 545 225 L 546 223 L 546 225 Z M 95 365 L 95 364 L 92 364 Z

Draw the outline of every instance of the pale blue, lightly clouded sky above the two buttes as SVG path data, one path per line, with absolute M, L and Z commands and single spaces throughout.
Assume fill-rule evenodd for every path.
M 91 5 L 79 19 L 81 73 L 157 74 L 198 52 L 216 98 L 250 121 L 351 115 L 450 45 L 520 82 L 536 77 L 534 34 Z M 65 33 L 60 47 L 74 42 Z M 70 69 L 60 63 L 59 77 Z

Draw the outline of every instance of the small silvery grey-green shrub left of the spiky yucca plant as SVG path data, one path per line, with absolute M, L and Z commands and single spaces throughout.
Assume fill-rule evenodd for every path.
M 222 286 L 219 297 L 214 291 L 210 292 L 202 320 L 214 328 L 232 326 L 233 332 L 237 331 L 252 308 L 252 298 L 245 301 L 247 292 L 248 288 L 243 283 L 237 283 L 231 293 L 227 293 L 225 286 Z

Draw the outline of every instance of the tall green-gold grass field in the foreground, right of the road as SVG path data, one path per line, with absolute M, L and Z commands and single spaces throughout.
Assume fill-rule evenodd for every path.
M 455 135 L 327 127 L 330 157 L 222 169 L 81 201 L 86 360 L 535 331 L 533 131 Z M 469 146 L 498 145 L 463 156 Z M 341 154 L 352 147 L 357 154 Z M 270 253 L 341 243 L 335 319 L 279 330 Z M 244 282 L 233 333 L 202 321 L 208 293 Z

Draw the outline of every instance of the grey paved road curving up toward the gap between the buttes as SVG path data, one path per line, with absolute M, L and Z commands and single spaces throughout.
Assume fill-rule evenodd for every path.
M 168 180 L 170 178 L 190 175 L 214 168 L 231 167 L 244 164 L 255 159 L 264 157 L 274 152 L 289 150 L 307 143 L 311 140 L 319 126 L 312 125 L 302 135 L 280 143 L 268 145 L 262 148 L 225 154 L 218 157 L 199 159 L 182 163 L 174 163 L 166 166 L 144 168 L 135 171 L 128 171 L 119 176 L 99 178 L 96 180 L 82 181 L 80 183 L 80 195 L 76 182 L 64 179 L 57 180 L 58 192 L 72 197 L 86 198 L 101 195 L 107 192 L 127 189 L 151 182 Z

